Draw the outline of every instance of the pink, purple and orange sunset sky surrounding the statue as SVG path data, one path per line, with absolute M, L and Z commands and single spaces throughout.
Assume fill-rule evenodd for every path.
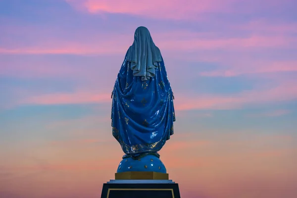
M 297 197 L 296 0 L 0 0 L 0 198 L 99 198 L 111 91 L 146 26 L 174 92 L 182 198 Z

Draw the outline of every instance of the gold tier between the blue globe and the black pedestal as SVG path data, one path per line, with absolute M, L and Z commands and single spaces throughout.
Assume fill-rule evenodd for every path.
M 115 173 L 116 180 L 168 180 L 168 173 L 158 173 L 153 171 L 129 171 Z

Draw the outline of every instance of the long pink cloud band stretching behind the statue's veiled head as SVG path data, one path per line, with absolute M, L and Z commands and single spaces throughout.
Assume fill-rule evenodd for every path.
M 247 38 L 229 38 L 229 39 L 199 39 L 197 34 L 196 38 L 189 39 L 189 33 L 184 33 L 184 39 L 179 37 L 170 36 L 166 39 L 166 34 L 155 34 L 155 43 L 163 51 L 188 51 L 188 50 L 245 50 L 245 49 L 259 49 L 259 48 L 295 48 L 297 40 L 290 37 L 282 36 L 251 36 Z M 17 47 L 15 49 L 0 48 L 0 53 L 3 54 L 122 54 L 127 51 L 133 40 L 131 36 L 125 36 L 123 39 L 118 39 L 114 42 L 116 36 L 102 36 L 105 42 L 97 40 L 96 43 L 65 43 L 52 42 L 50 45 L 37 44 L 36 47 Z M 108 42 L 106 42 L 108 41 Z

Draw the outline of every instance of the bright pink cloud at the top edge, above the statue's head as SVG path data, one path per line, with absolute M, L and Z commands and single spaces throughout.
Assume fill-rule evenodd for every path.
M 151 0 L 148 2 L 137 0 L 66 0 L 79 10 L 89 13 L 120 13 L 140 15 L 151 18 L 191 19 L 198 13 L 209 11 L 226 12 L 230 2 L 234 0 Z M 157 6 L 156 6 L 157 5 Z

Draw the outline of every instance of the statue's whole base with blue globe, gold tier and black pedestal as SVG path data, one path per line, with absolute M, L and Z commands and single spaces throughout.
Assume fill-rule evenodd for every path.
M 180 198 L 180 192 L 159 157 L 146 155 L 124 158 L 115 180 L 103 184 L 101 198 Z

